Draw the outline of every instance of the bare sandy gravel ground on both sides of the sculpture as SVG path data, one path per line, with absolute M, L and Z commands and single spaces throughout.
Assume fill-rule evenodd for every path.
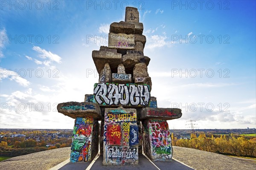
M 173 147 L 173 157 L 197 170 L 253 170 L 255 164 L 186 147 Z M 69 158 L 70 147 L 17 156 L 0 162 L 0 170 L 48 170 Z

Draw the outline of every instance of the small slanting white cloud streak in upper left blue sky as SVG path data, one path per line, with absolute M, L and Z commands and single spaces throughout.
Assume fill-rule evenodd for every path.
M 42 49 L 38 46 L 33 46 L 32 48 L 34 51 L 38 52 L 38 57 L 41 57 L 42 59 L 49 59 L 49 61 L 61 63 L 61 57 L 59 57 L 57 54 L 53 54 L 51 51 L 46 51 L 45 49 Z

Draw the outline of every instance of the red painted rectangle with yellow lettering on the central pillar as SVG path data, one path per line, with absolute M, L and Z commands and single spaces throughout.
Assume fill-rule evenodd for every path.
M 117 124 L 108 125 L 108 129 L 107 129 L 108 144 L 121 145 L 121 138 L 122 138 L 121 126 Z

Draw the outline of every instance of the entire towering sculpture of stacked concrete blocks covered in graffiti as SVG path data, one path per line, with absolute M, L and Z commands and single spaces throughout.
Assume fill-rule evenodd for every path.
M 142 33 L 137 8 L 126 7 L 125 22 L 110 26 L 108 47 L 92 52 L 99 73 L 93 94 L 86 94 L 81 103 L 58 104 L 58 112 L 76 119 L 71 162 L 92 160 L 99 143 L 104 165 L 138 164 L 143 151 L 152 161 L 172 159 L 166 120 L 182 113 L 177 108 L 157 108 L 157 99 L 150 96 L 150 58 L 144 56 Z

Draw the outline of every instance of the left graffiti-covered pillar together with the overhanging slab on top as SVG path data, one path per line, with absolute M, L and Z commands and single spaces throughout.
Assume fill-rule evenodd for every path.
M 57 106 L 58 112 L 75 119 L 70 162 L 91 161 L 99 151 L 99 122 L 101 111 L 93 102 L 66 102 Z

